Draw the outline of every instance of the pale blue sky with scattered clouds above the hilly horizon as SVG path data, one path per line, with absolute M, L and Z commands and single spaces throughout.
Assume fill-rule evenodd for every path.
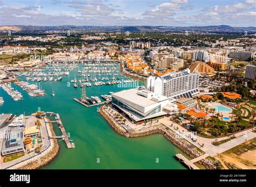
M 0 0 L 0 25 L 256 26 L 256 0 Z

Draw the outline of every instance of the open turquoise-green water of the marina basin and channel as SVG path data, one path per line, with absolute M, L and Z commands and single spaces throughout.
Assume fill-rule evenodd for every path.
M 73 98 L 79 98 L 81 90 L 73 88 L 72 84 L 68 87 L 68 82 L 74 78 L 77 70 L 70 72 L 69 76 L 63 76 L 60 82 L 41 82 L 47 94 L 43 97 L 30 97 L 19 86 L 12 84 L 12 87 L 24 96 L 24 100 L 14 102 L 0 88 L 0 95 L 5 101 L 0 106 L 1 113 L 19 115 L 25 112 L 29 115 L 40 109 L 60 114 L 76 148 L 67 149 L 64 142 L 60 140 L 59 154 L 43 169 L 186 169 L 174 158 L 175 154 L 183 152 L 163 135 L 126 138 L 112 130 L 98 113 L 98 106 L 87 108 L 75 102 Z M 140 82 L 140 84 L 143 83 Z M 51 96 L 52 85 L 55 97 Z M 100 96 L 123 89 L 118 88 L 118 85 L 92 86 L 86 87 L 86 93 L 89 96 Z M 57 126 L 55 130 L 59 135 Z M 157 159 L 159 163 L 156 163 Z

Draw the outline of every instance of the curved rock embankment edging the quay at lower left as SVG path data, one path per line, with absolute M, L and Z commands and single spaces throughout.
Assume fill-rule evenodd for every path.
M 50 121 L 48 118 L 46 119 Z M 48 132 L 51 136 L 55 136 L 56 133 L 53 130 L 51 123 L 48 123 L 47 126 Z M 50 163 L 58 155 L 59 145 L 57 139 L 50 139 L 50 146 L 44 150 L 42 153 L 39 153 L 36 156 L 33 156 L 31 159 L 25 160 L 23 162 L 17 163 L 14 166 L 11 166 L 8 169 L 38 169 L 44 167 L 46 164 Z

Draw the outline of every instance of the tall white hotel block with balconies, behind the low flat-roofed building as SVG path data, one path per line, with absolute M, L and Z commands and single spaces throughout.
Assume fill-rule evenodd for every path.
M 198 71 L 195 70 L 194 73 L 190 73 L 190 69 L 187 68 L 178 72 L 170 72 L 160 77 L 148 77 L 146 89 L 156 95 L 163 95 L 167 98 L 193 98 L 199 94 L 198 85 Z

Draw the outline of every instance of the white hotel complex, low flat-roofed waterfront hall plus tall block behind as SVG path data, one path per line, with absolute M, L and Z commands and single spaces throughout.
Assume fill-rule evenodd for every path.
M 112 94 L 112 105 L 137 123 L 151 118 L 178 113 L 179 98 L 192 98 L 198 91 L 199 73 L 189 69 L 161 77 L 147 78 L 147 87 Z

